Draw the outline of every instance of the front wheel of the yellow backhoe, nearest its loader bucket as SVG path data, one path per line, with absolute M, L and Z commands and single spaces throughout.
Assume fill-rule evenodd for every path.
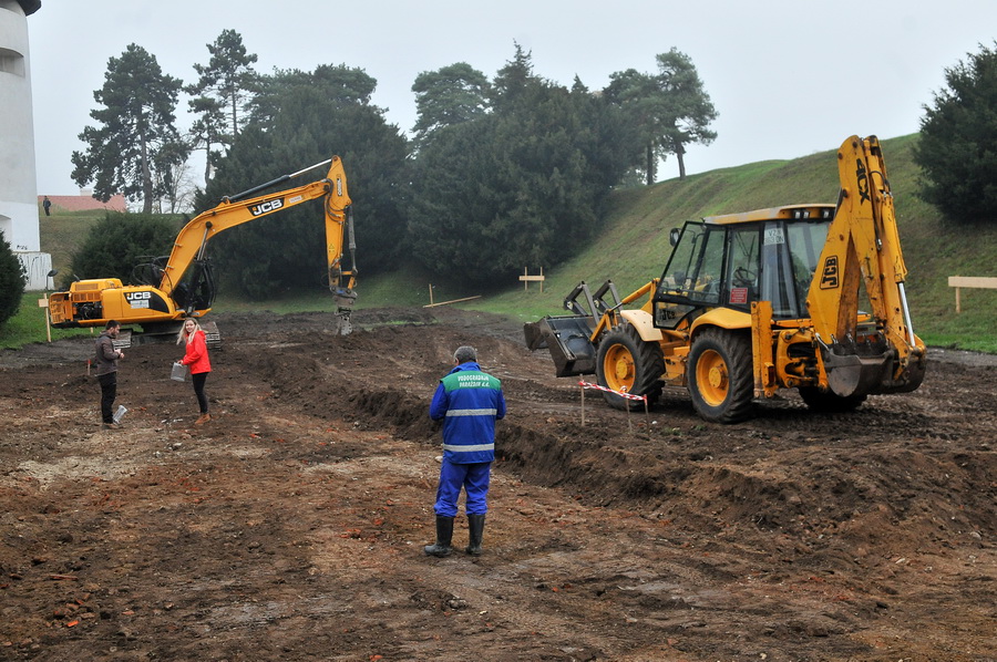
M 596 379 L 600 386 L 633 395 L 647 395 L 650 403 L 661 393 L 659 380 L 662 374 L 665 354 L 661 345 L 643 340 L 633 324 L 624 322 L 599 341 Z M 643 407 L 639 401 L 620 397 L 615 393 L 604 391 L 603 397 L 609 406 L 617 410 Z

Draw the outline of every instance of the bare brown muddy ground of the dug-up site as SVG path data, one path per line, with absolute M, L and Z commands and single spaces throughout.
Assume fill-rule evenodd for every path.
M 997 660 L 997 361 L 815 415 L 705 423 L 553 376 L 521 329 L 446 309 L 218 314 L 194 427 L 175 345 L 0 355 L 3 660 Z M 459 344 L 502 379 L 485 551 L 428 558 Z M 459 517 L 455 544 L 466 542 Z

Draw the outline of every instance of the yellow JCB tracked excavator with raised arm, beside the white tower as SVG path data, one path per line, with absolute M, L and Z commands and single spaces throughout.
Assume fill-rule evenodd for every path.
M 296 188 L 257 195 L 315 168 L 329 165 L 325 178 Z M 255 197 L 253 197 L 255 196 Z M 215 300 L 215 280 L 207 258 L 208 241 L 237 225 L 323 198 L 326 256 L 329 289 L 341 318 L 340 332 L 350 332 L 350 311 L 357 293 L 352 206 L 347 192 L 342 161 L 333 156 L 314 166 L 284 175 L 232 197 L 225 197 L 187 223 L 174 241 L 167 258 L 158 258 L 137 271 L 138 285 L 122 285 L 117 278 L 78 280 L 69 291 L 49 296 L 49 312 L 56 328 L 103 327 L 117 320 L 122 328 L 140 325 L 142 333 L 123 333 L 122 346 L 130 342 L 154 340 L 175 334 L 187 316 L 201 318 Z M 350 252 L 350 269 L 342 268 L 343 245 Z M 208 344 L 217 346 L 216 324 L 204 323 Z

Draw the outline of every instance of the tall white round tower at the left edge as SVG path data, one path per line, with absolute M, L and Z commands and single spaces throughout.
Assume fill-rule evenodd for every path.
M 28 289 L 41 290 L 52 257 L 41 252 L 28 17 L 41 0 L 0 0 L 0 231 L 21 259 Z

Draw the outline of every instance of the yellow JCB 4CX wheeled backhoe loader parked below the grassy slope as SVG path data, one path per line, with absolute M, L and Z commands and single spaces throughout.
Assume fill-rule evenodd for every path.
M 820 411 L 917 389 L 925 348 L 875 136 L 842 144 L 839 175 L 837 205 L 686 223 L 660 278 L 623 299 L 611 281 L 595 292 L 582 282 L 565 299 L 574 314 L 526 324 L 527 346 L 548 348 L 557 376 L 595 373 L 615 392 L 654 400 L 685 387 L 701 417 L 721 423 L 780 389 Z

